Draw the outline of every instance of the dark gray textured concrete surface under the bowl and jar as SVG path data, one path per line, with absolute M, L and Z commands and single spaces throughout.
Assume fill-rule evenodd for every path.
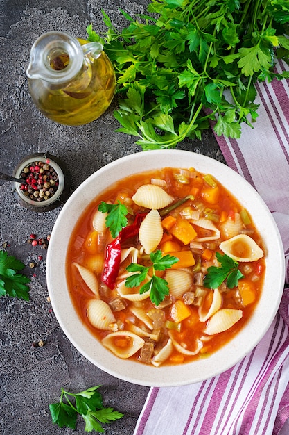
M 106 163 L 139 151 L 132 137 L 115 132 L 119 126 L 112 115 L 115 101 L 86 126 L 55 124 L 33 106 L 25 74 L 30 47 L 40 34 L 62 30 L 84 37 L 89 22 L 105 31 L 101 8 L 121 28 L 119 6 L 143 13 L 146 0 L 0 0 L 0 171 L 12 174 L 24 156 L 50 151 L 69 167 L 75 189 Z M 179 148 L 223 161 L 211 131 L 202 142 L 188 140 Z M 53 425 L 49 404 L 59 400 L 61 386 L 77 392 L 101 384 L 105 404 L 125 414 L 122 420 L 105 425 L 105 434 L 130 435 L 148 388 L 107 375 L 71 345 L 47 300 L 46 249 L 26 243 L 30 233 L 49 235 L 59 212 L 60 208 L 47 213 L 27 211 L 13 196 L 12 184 L 0 181 L 0 249 L 23 261 L 31 279 L 29 302 L 0 298 L 0 434 L 83 434 L 80 420 L 75 432 Z M 28 266 L 31 261 L 36 263 L 33 269 Z M 44 347 L 32 347 L 38 340 L 44 340 Z

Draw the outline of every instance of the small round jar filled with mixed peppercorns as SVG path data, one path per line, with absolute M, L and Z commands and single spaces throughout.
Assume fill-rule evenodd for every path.
M 54 178 L 50 178 L 52 175 Z M 59 158 L 51 156 L 49 153 L 36 153 L 23 158 L 15 167 L 13 176 L 19 179 L 28 179 L 28 183 L 23 185 L 18 182 L 14 183 L 15 196 L 21 206 L 31 211 L 53 210 L 69 197 L 69 172 Z M 47 193 L 49 190 L 50 192 Z

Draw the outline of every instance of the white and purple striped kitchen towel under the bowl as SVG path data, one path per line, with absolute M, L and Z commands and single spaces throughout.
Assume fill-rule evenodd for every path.
M 279 63 L 278 72 L 288 69 Z M 216 138 L 227 164 L 256 188 L 283 240 L 289 283 L 289 81 L 258 83 L 259 117 L 238 140 Z M 150 388 L 134 435 L 288 435 L 289 288 L 250 354 L 207 381 Z M 181 369 L 180 369 L 181 370 Z

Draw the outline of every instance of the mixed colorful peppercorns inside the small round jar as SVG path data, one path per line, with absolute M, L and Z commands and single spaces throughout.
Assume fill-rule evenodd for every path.
M 33 201 L 46 201 L 58 190 L 58 174 L 49 163 L 49 159 L 46 163 L 31 162 L 21 171 L 20 178 L 26 184 L 21 184 L 20 190 Z

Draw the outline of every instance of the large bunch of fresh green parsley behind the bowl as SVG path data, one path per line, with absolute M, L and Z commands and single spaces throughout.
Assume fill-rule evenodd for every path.
M 116 71 L 118 131 L 143 150 L 174 148 L 217 118 L 218 136 L 239 138 L 258 116 L 254 83 L 289 77 L 274 72 L 277 58 L 289 60 L 288 0 L 152 0 L 147 10 L 121 10 L 121 32 L 104 11 L 105 35 L 87 27 Z

